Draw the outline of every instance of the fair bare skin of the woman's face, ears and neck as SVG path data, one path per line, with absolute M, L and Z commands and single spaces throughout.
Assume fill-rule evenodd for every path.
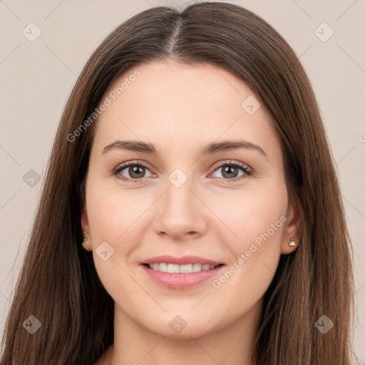
M 270 115 L 262 105 L 249 115 L 241 103 L 255 93 L 217 66 L 169 61 L 138 70 L 141 75 L 97 121 L 86 178 L 84 247 L 93 251 L 98 276 L 115 301 L 114 344 L 96 364 L 256 364 L 253 341 L 264 292 L 280 255 L 297 248 L 289 247 L 290 239 L 300 238 L 300 211 L 297 200 L 288 199 Z M 118 77 L 105 96 L 132 72 Z M 206 143 L 237 138 L 259 145 L 266 156 L 237 149 L 196 158 Z M 153 143 L 160 156 L 102 153 L 118 139 Z M 135 160 L 148 165 L 140 182 L 113 175 Z M 215 168 L 231 160 L 253 175 Z M 175 168 L 187 177 L 181 187 L 168 180 Z M 120 175 L 135 178 L 129 168 Z M 230 183 L 235 177 L 241 179 Z M 163 288 L 139 264 L 155 255 L 197 255 L 228 269 L 281 216 L 286 222 L 220 288 L 212 280 L 190 289 Z M 114 254 L 103 261 L 96 249 L 105 241 Z M 176 315 L 187 324 L 178 334 L 169 326 Z

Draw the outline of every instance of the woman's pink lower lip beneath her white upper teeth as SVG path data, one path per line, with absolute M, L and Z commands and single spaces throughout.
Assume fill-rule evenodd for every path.
M 154 282 L 168 289 L 187 289 L 195 287 L 197 284 L 201 284 L 202 282 L 212 279 L 212 277 L 215 277 L 222 268 L 225 267 L 222 265 L 215 269 L 206 271 L 189 272 L 187 274 L 170 274 L 170 272 L 160 272 L 150 269 L 143 264 L 141 266 L 150 279 L 153 279 Z

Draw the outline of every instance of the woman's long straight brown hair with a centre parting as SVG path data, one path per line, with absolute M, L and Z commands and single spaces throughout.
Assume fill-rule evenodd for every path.
M 266 21 L 220 2 L 160 6 L 118 26 L 73 88 L 53 144 L 29 246 L 3 337 L 1 364 L 93 364 L 113 343 L 113 299 L 81 242 L 83 180 L 97 120 L 79 128 L 120 73 L 148 61 L 210 63 L 235 73 L 274 120 L 302 238 L 282 255 L 264 295 L 259 365 L 350 364 L 351 242 L 317 101 L 292 48 Z M 29 315 L 41 329 L 29 334 Z M 327 334 L 315 326 L 326 315 Z

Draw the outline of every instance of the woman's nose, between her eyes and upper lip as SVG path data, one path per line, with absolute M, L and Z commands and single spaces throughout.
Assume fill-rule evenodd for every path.
M 196 190 L 189 180 L 180 187 L 167 182 L 153 220 L 158 235 L 188 240 L 205 234 L 209 210 Z

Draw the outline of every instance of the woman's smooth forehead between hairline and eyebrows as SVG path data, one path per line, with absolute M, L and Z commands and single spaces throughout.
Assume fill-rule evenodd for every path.
M 278 148 L 270 115 L 255 93 L 218 66 L 144 63 L 118 76 L 106 98 L 110 105 L 96 123 L 98 150 L 127 138 L 180 150 L 237 137 Z

